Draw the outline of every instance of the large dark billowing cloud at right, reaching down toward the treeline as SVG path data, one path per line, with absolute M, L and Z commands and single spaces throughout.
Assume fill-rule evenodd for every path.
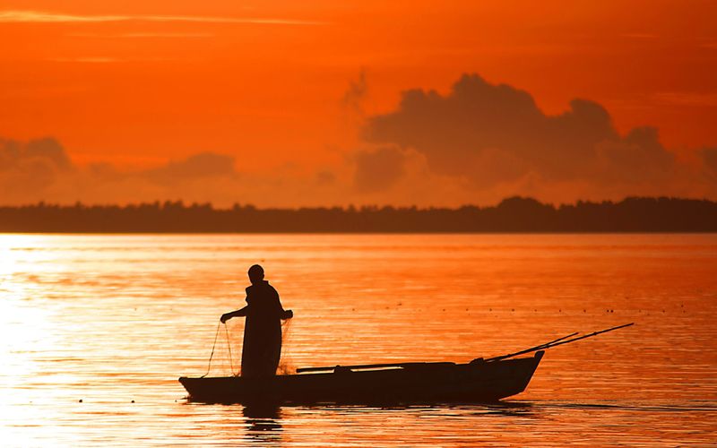
M 657 129 L 621 135 L 608 111 L 587 99 L 548 115 L 527 91 L 477 74 L 463 75 L 447 94 L 405 91 L 396 110 L 368 117 L 362 134 L 376 145 L 418 151 L 431 172 L 466 179 L 476 191 L 530 194 L 537 185 L 555 194 L 581 185 L 592 195 L 668 194 L 672 187 L 688 190 L 690 182 Z

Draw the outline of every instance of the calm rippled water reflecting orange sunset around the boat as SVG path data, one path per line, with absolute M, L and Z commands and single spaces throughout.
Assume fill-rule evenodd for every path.
M 504 405 L 186 401 L 263 263 L 295 312 L 285 365 L 551 349 Z M 212 375 L 239 357 L 220 332 Z M 0 235 L 0 444 L 717 444 L 717 236 Z M 82 400 L 82 402 L 80 402 Z M 134 401 L 134 402 L 133 402 Z

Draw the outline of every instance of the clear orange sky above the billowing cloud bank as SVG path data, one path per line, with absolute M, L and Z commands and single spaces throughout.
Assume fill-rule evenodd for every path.
M 0 138 L 51 136 L 79 167 L 212 152 L 240 172 L 340 176 L 403 90 L 479 73 L 549 115 L 591 99 L 621 134 L 656 126 L 680 158 L 717 146 L 709 0 L 238 4 L 4 0 Z

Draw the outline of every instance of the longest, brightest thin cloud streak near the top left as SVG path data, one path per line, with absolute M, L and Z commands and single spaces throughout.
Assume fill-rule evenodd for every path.
M 249 17 L 212 17 L 201 15 L 81 15 L 45 11 L 0 11 L 0 22 L 21 23 L 97 23 L 97 22 L 198 22 L 256 25 L 322 25 L 323 22 L 292 19 L 259 19 Z

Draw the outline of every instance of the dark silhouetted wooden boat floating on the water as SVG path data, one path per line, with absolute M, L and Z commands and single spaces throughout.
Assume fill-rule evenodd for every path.
M 543 357 L 470 363 L 402 363 L 310 367 L 297 375 L 179 378 L 189 399 L 252 403 L 490 402 L 523 392 Z

